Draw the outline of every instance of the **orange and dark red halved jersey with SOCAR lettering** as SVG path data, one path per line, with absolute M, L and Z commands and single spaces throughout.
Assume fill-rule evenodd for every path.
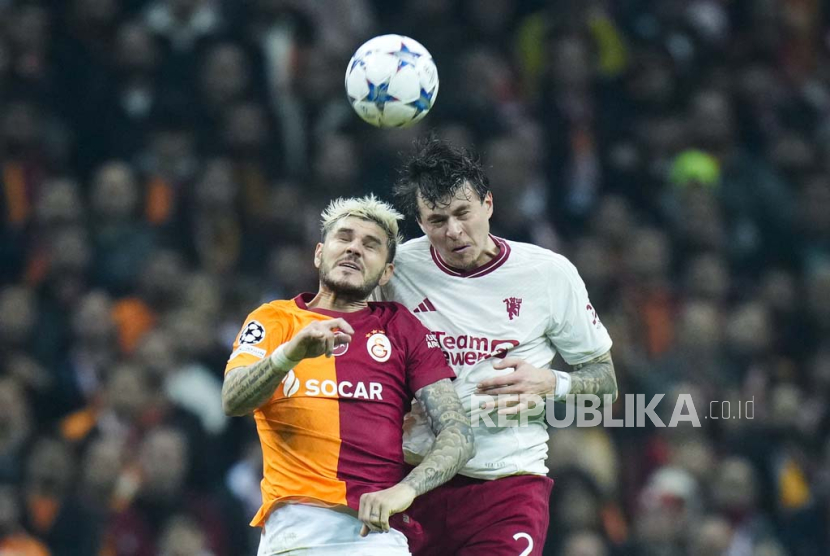
M 370 302 L 353 313 L 309 309 L 313 294 L 272 301 L 251 313 L 228 364 L 247 366 L 270 355 L 306 325 L 341 317 L 351 343 L 331 358 L 304 359 L 254 411 L 262 443 L 262 526 L 283 503 L 348 506 L 406 475 L 403 418 L 414 392 L 455 378 L 435 337 L 403 306 Z

